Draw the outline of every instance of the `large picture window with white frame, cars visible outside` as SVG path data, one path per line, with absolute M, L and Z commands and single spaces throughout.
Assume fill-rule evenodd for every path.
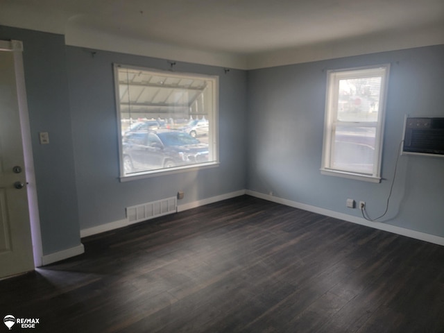
M 114 65 L 121 178 L 217 164 L 218 79 Z

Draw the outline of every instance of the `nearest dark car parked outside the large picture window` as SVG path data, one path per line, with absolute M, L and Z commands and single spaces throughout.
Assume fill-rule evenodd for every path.
M 128 133 L 122 147 L 126 174 L 208 161 L 208 145 L 179 130 Z

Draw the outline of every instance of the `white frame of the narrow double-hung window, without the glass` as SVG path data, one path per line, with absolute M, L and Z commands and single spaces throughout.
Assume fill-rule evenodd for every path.
M 327 71 L 327 92 L 325 101 L 324 140 L 321 173 L 327 176 L 339 176 L 368 182 L 381 182 L 382 144 L 384 137 L 384 119 L 386 110 L 386 95 L 388 73 L 390 65 L 375 65 L 368 67 L 356 67 L 350 69 L 334 69 Z M 361 78 L 381 76 L 381 91 L 379 95 L 379 108 L 377 121 L 353 121 L 341 122 L 337 120 L 339 81 L 347 78 Z M 346 125 L 355 127 L 375 128 L 375 154 L 373 159 L 373 171 L 363 173 L 359 171 L 344 171 L 332 167 L 331 155 L 334 148 L 336 126 Z

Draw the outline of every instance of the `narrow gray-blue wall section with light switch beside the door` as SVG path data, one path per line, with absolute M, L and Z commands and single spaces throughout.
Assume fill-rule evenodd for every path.
M 49 255 L 80 244 L 65 38 L 0 26 L 0 39 L 24 44 L 43 254 Z M 50 144 L 39 144 L 39 132 L 49 132 Z

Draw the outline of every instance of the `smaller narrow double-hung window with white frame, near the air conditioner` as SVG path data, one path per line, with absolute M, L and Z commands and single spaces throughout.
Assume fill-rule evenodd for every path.
M 323 174 L 380 181 L 388 65 L 327 72 Z

